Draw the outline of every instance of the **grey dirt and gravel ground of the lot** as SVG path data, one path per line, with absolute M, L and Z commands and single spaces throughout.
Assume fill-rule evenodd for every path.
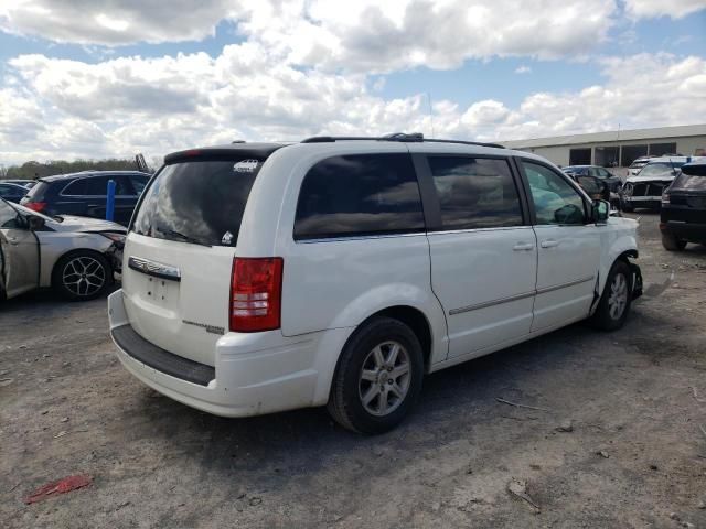
M 201 413 L 121 368 L 105 300 L 9 301 L 0 526 L 706 527 L 706 248 L 667 253 L 657 222 L 641 219 L 646 289 L 623 330 L 577 324 L 435 374 L 376 438 L 323 409 Z M 24 505 L 73 474 L 94 482 Z

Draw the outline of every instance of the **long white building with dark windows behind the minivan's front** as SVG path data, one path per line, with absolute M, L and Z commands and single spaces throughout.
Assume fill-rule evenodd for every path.
M 646 154 L 706 155 L 706 123 L 501 141 L 557 165 L 629 166 Z

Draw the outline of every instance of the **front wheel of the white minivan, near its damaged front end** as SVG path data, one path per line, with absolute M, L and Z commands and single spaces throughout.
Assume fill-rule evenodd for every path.
M 632 272 L 625 261 L 618 260 L 608 273 L 606 287 L 591 323 L 603 331 L 616 331 L 622 327 L 628 319 L 631 302 Z

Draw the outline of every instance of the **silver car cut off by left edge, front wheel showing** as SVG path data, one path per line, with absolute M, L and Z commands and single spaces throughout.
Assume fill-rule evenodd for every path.
M 0 199 L 0 298 L 53 287 L 68 300 L 106 292 L 126 229 L 95 218 L 51 218 Z

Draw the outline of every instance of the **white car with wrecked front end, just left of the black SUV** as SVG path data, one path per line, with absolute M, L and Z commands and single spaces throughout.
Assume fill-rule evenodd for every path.
M 620 190 L 620 205 L 624 212 L 635 207 L 659 209 L 662 193 L 678 174 L 687 156 L 653 158 L 637 175 L 628 176 Z

